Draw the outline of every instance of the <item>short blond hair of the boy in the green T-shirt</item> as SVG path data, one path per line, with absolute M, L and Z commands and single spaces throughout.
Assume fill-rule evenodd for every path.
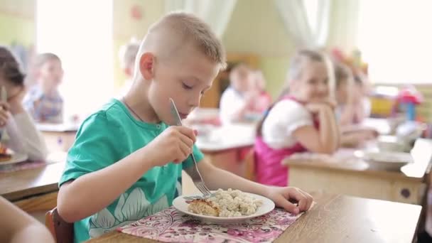
M 191 42 L 207 58 L 220 65 L 220 70 L 225 69 L 225 50 L 210 26 L 191 13 L 173 12 L 148 28 L 136 55 L 134 77 L 139 77 L 139 59 L 144 53 L 159 51 L 165 53 L 161 54 L 163 58 L 169 58 Z

